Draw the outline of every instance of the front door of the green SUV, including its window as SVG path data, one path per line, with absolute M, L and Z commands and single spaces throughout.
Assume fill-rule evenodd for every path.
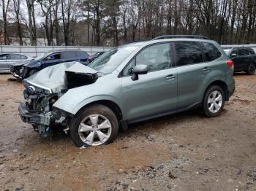
M 139 64 L 148 65 L 150 71 L 133 81 L 132 68 Z M 169 42 L 146 47 L 132 59 L 121 78 L 121 100 L 127 120 L 176 112 L 177 70 L 172 66 Z

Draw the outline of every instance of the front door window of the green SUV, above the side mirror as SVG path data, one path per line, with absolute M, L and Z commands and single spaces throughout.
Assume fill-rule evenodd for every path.
M 170 58 L 170 43 L 154 44 L 146 47 L 124 69 L 124 76 L 132 74 L 135 65 L 148 65 L 149 71 L 169 69 L 172 66 Z

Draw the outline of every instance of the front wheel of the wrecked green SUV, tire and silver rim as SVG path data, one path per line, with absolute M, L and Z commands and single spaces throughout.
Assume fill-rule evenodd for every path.
M 99 146 L 116 139 L 118 120 L 110 108 L 95 104 L 75 114 L 69 129 L 77 147 Z

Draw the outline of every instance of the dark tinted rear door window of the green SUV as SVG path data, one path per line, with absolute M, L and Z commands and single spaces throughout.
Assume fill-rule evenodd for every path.
M 197 42 L 176 42 L 177 66 L 203 62 L 203 54 Z

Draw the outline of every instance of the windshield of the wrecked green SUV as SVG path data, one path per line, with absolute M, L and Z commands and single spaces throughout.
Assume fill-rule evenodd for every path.
M 119 66 L 138 47 L 116 47 L 105 52 L 89 64 L 91 69 L 102 73 L 110 73 Z

